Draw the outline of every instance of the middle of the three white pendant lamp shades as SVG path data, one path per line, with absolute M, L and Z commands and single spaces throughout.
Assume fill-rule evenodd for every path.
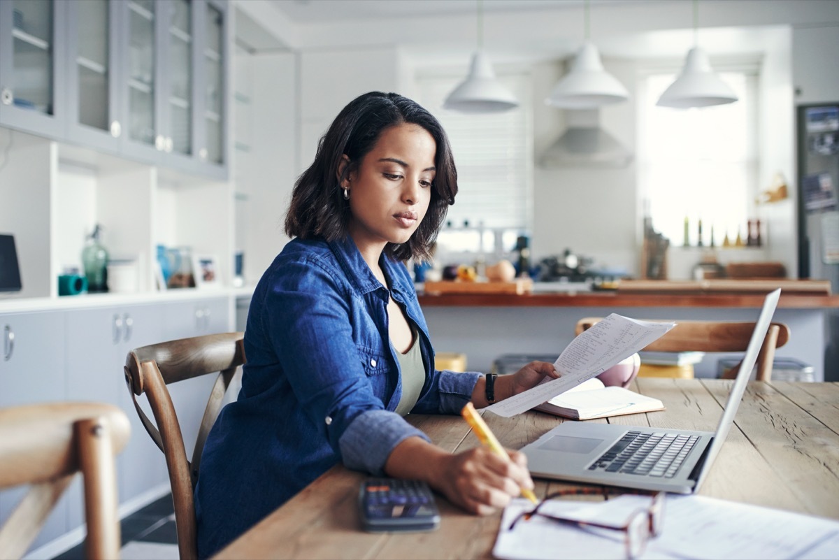
M 586 41 L 577 51 L 571 71 L 554 86 L 545 103 L 564 109 L 592 109 L 628 97 L 623 84 L 603 70 L 597 47 Z

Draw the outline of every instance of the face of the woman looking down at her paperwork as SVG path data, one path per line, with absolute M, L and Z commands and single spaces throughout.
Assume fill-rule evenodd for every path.
M 350 235 L 362 253 L 404 243 L 420 226 L 431 200 L 436 151 L 434 137 L 419 125 L 386 128 L 341 184 L 350 194 Z

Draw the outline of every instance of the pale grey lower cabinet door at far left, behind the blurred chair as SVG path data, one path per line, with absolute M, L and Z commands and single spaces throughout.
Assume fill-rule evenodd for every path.
M 0 407 L 64 400 L 63 319 L 61 311 L 0 314 Z M 0 526 L 27 490 L 24 486 L 0 491 Z M 33 547 L 63 534 L 67 516 L 65 504 L 56 506 Z

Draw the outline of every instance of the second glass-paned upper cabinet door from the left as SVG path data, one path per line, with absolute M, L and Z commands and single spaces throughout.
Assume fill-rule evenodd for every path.
M 119 21 L 110 0 L 75 0 L 68 6 L 68 139 L 117 148 Z

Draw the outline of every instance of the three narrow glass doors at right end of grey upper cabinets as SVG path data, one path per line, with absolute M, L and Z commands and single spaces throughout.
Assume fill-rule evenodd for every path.
M 120 6 L 128 41 L 122 153 L 226 179 L 227 4 L 129 0 Z

